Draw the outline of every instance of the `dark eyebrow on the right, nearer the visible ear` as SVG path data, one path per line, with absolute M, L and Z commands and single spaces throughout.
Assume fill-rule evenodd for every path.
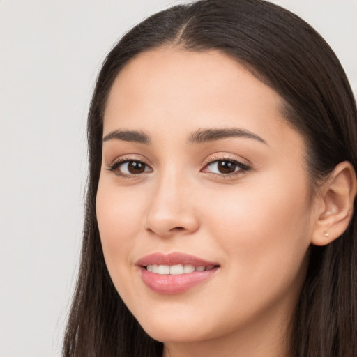
M 228 137 L 247 137 L 248 139 L 255 139 L 258 142 L 268 145 L 259 135 L 241 128 L 199 129 L 190 135 L 188 141 L 193 144 L 202 144 L 204 142 L 226 139 Z

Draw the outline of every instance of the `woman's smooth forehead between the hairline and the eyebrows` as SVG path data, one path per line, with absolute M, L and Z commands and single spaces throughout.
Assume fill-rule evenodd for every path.
M 282 116 L 282 102 L 278 93 L 221 52 L 159 48 L 136 56 L 116 77 L 104 133 L 139 128 L 154 136 L 158 129 L 188 135 L 200 128 L 238 126 L 261 137 L 292 135 L 300 140 Z

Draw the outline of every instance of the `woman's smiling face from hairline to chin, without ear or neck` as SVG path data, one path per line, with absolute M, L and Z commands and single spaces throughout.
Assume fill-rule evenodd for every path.
M 156 340 L 276 335 L 289 321 L 314 207 L 281 105 L 215 51 L 152 50 L 116 78 L 98 225 L 117 291 Z

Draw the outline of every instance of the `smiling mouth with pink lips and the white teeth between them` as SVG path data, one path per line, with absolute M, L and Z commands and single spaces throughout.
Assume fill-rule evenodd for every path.
M 183 253 L 154 253 L 139 259 L 141 278 L 159 294 L 181 294 L 211 278 L 220 265 Z

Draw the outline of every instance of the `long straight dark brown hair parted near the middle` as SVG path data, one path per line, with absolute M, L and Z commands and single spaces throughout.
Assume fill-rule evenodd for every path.
M 88 119 L 89 181 L 82 257 L 63 344 L 65 357 L 161 356 L 162 344 L 130 314 L 105 266 L 96 220 L 102 119 L 111 86 L 137 54 L 174 45 L 218 50 L 246 66 L 284 100 L 284 114 L 307 144 L 312 183 L 348 160 L 357 169 L 356 102 L 337 57 L 310 25 L 261 0 L 203 0 L 157 13 L 109 52 Z M 291 336 L 294 357 L 357 356 L 357 227 L 312 246 Z

